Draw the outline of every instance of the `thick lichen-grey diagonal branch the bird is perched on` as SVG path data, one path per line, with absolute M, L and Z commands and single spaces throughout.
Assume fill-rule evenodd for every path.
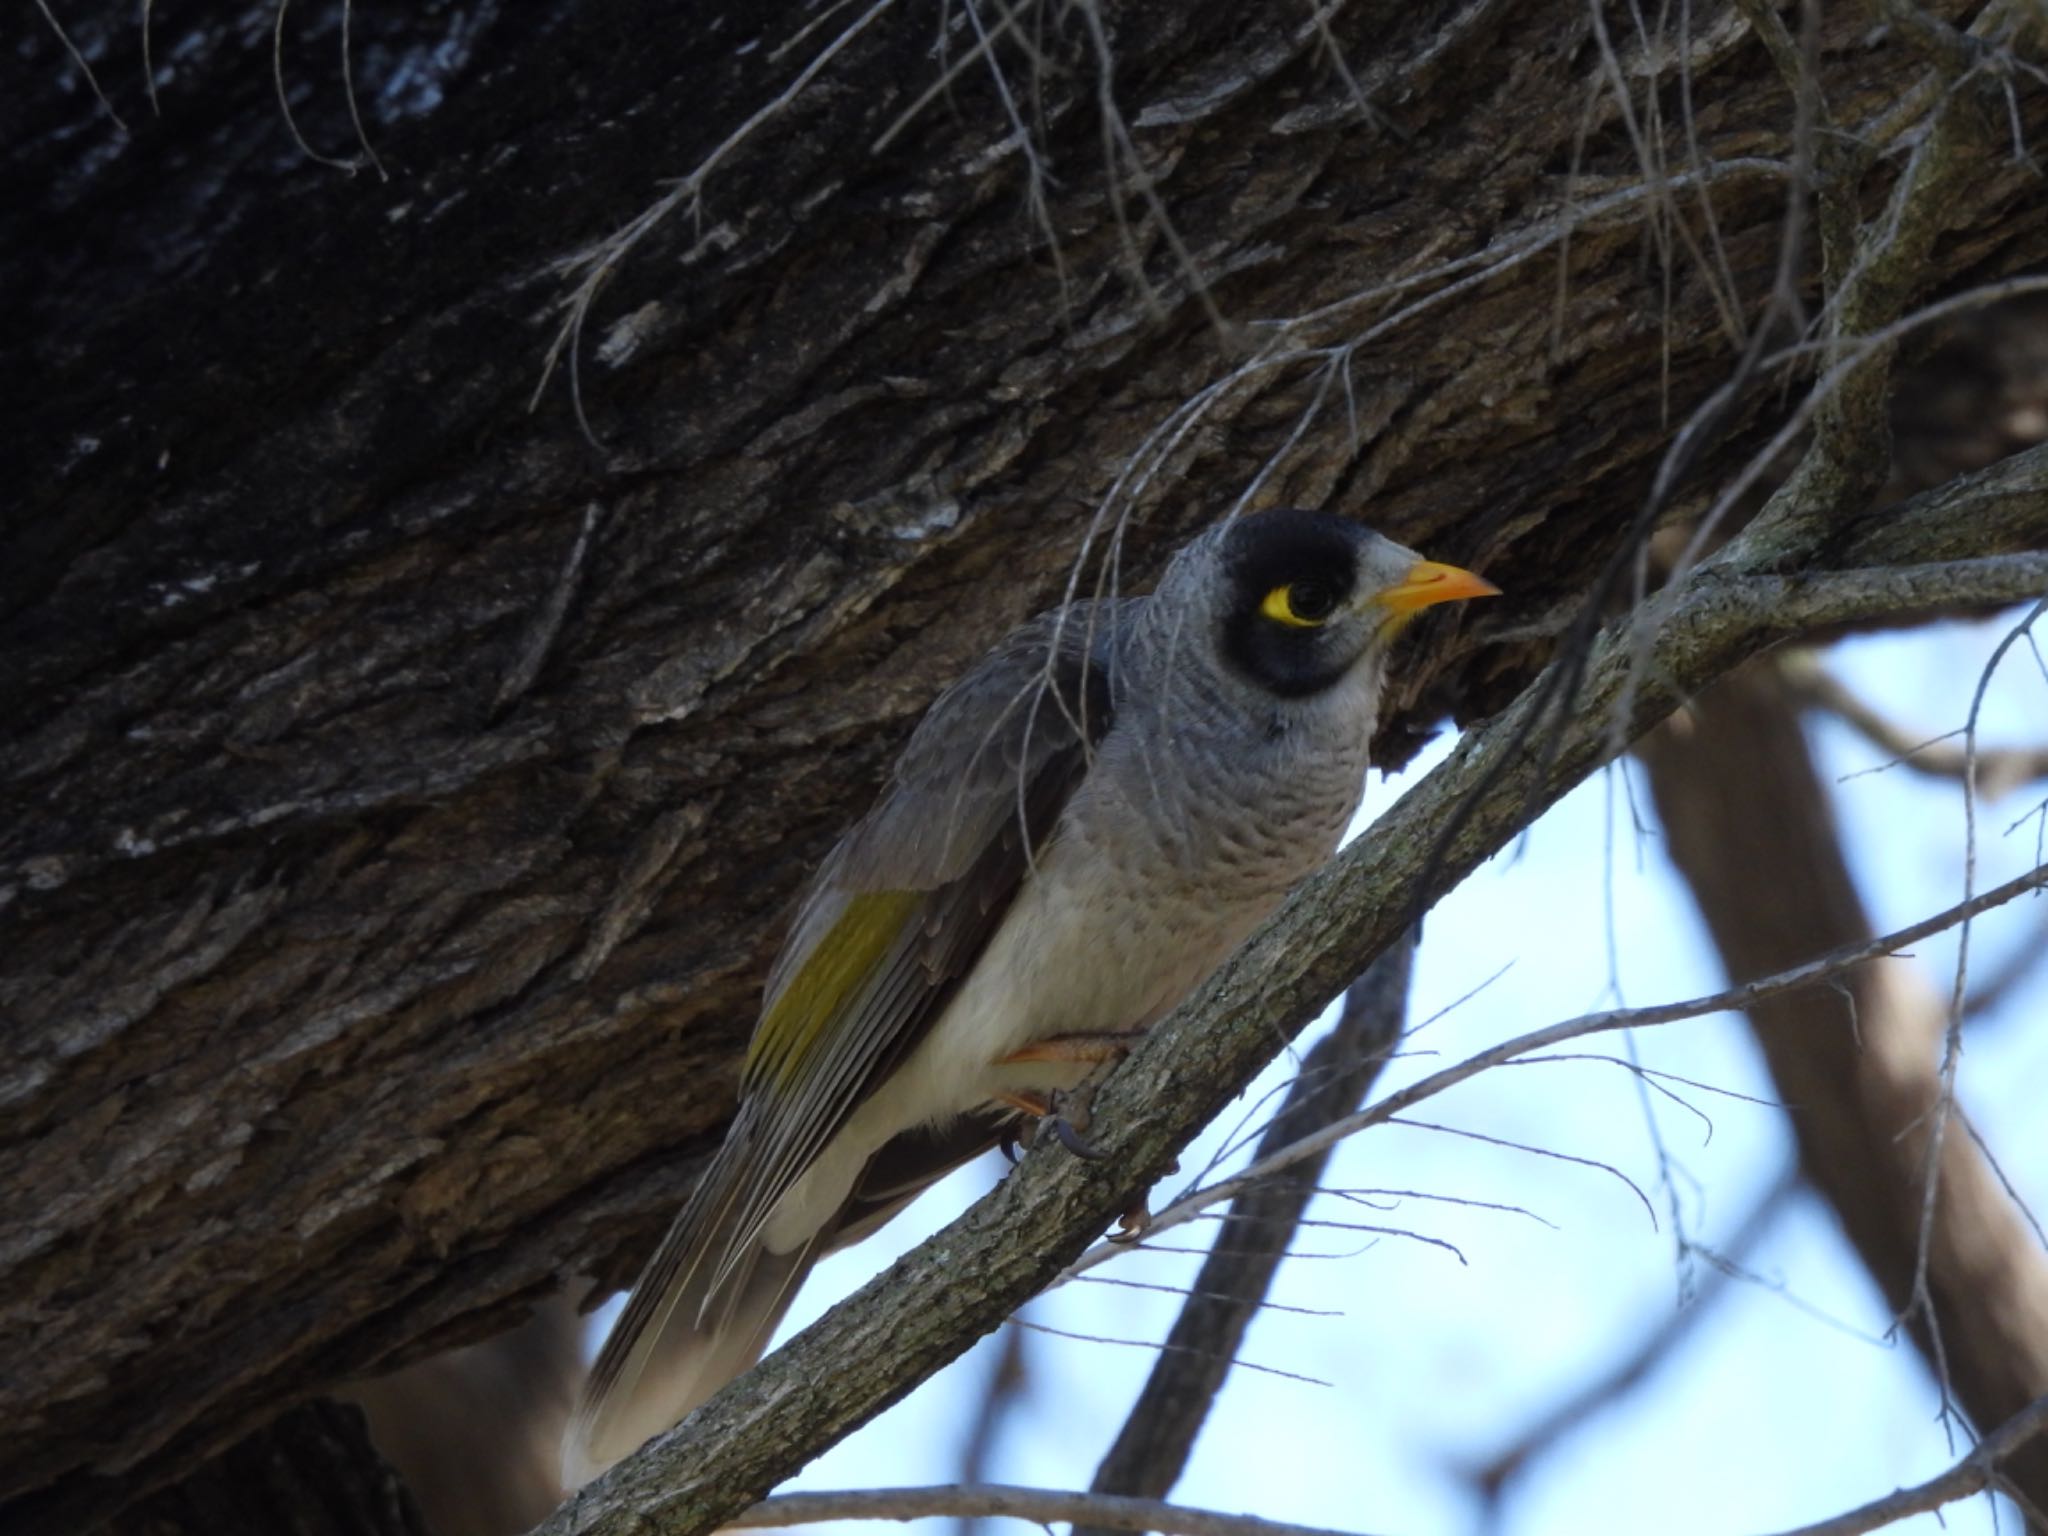
M 1991 588 L 1972 602 L 2048 588 L 2048 555 L 1982 553 L 2048 543 L 2048 498 L 2015 494 L 2038 487 L 2044 471 L 2048 451 L 2034 451 L 1968 485 L 1915 498 L 1868 530 L 1841 532 L 1835 569 L 1759 575 L 1743 563 L 1745 541 L 1733 541 L 1673 588 L 1640 670 L 1626 627 L 1599 637 L 1575 711 L 1542 760 L 1520 750 L 1528 713 L 1544 696 L 1538 680 L 1403 795 L 1374 836 L 1305 881 L 1102 1085 L 1092 1130 L 1102 1159 L 1034 1149 L 967 1214 L 584 1489 L 543 1530 L 694 1536 L 756 1503 L 1042 1288 L 1174 1165 L 1282 1038 L 1399 936 L 1417 903 L 1456 885 L 1681 700 L 1808 623 L 1956 602 L 1964 571 Z M 1958 559 L 1964 553 L 1976 559 Z M 1767 555 L 1782 561 L 1784 543 Z M 1866 559 L 1917 561 L 1917 575 L 1860 569 Z M 1624 694 L 1628 717 L 1614 729 L 1608 715 Z M 1466 801 L 1456 838 L 1440 848 L 1438 827 Z

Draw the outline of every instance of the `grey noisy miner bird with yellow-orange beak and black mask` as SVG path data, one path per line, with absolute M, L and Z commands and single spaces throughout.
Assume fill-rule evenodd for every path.
M 1401 627 L 1493 592 L 1343 518 L 1260 512 L 948 688 L 797 911 L 739 1112 L 598 1356 L 563 1481 L 752 1366 L 811 1264 L 1186 997 L 1335 850 Z

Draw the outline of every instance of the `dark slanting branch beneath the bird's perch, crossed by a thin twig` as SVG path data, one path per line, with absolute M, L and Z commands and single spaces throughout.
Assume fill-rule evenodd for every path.
M 1350 987 L 1343 1016 L 1309 1053 L 1286 1104 L 1260 1139 L 1257 1157 L 1356 1110 L 1386 1063 L 1386 1051 L 1401 1038 L 1413 956 L 1409 934 Z M 1116 1444 L 1096 1468 L 1096 1493 L 1161 1497 L 1180 1481 L 1245 1329 L 1266 1303 L 1274 1272 L 1323 1182 L 1323 1157 L 1307 1159 L 1286 1178 L 1249 1188 L 1231 1204 L 1217 1245 L 1174 1319 L 1165 1350 Z M 1077 1526 L 1075 1536 L 1104 1530 L 1110 1528 Z

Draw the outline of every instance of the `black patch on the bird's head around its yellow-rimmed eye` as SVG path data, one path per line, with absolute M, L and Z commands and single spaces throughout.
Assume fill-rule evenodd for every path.
M 1284 508 L 1233 522 L 1223 535 L 1225 659 L 1282 698 L 1339 682 L 1358 659 L 1356 627 L 1282 623 L 1268 602 L 1292 588 L 1303 614 L 1341 612 L 1358 588 L 1364 541 L 1364 528 L 1329 512 Z

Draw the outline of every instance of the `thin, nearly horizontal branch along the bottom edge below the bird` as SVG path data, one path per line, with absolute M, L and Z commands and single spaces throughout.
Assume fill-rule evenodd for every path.
M 928 1520 L 932 1516 L 1008 1516 L 1051 1526 L 1071 1520 L 1100 1530 L 1155 1530 L 1159 1536 L 1346 1536 L 1325 1526 L 1288 1526 L 1257 1516 L 1182 1509 L 1159 1499 L 1114 1493 L 1020 1489 L 1008 1483 L 938 1489 L 850 1489 L 846 1493 L 782 1493 L 727 1520 L 731 1530 L 805 1526 L 813 1520 Z

